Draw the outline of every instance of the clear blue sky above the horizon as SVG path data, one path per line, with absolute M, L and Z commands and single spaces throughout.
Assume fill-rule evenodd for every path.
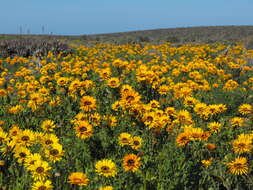
M 253 0 L 0 0 L 0 34 L 253 25 Z

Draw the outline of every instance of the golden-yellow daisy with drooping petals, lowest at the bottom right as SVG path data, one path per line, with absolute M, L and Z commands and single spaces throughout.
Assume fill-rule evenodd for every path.
M 243 175 L 249 172 L 247 158 L 238 157 L 234 161 L 226 163 L 229 172 L 235 175 Z

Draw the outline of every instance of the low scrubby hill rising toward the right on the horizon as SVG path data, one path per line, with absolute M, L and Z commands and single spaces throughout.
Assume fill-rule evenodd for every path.
M 110 34 L 87 35 L 87 39 L 100 41 L 140 42 L 216 42 L 238 41 L 253 37 L 253 26 L 208 26 L 143 30 Z

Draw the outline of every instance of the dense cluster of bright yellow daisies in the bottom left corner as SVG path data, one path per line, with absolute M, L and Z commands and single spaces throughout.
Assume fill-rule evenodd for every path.
M 2 124 L 4 124 L 2 122 Z M 32 189 L 40 187 L 51 189 L 52 182 L 49 180 L 51 164 L 62 159 L 63 147 L 59 143 L 59 138 L 53 131 L 55 127 L 52 120 L 45 120 L 41 124 L 43 132 L 36 132 L 30 129 L 20 129 L 17 125 L 12 125 L 6 133 L 1 128 L 0 139 L 2 143 L 1 152 L 3 155 L 13 153 L 14 158 L 32 175 L 34 184 Z M 37 146 L 37 151 L 33 151 Z

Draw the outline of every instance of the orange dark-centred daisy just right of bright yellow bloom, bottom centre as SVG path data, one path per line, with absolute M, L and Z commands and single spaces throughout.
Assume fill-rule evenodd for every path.
M 123 158 L 124 170 L 136 172 L 141 166 L 140 160 L 141 160 L 141 158 L 135 154 L 128 154 L 128 155 L 124 156 L 124 158 Z

